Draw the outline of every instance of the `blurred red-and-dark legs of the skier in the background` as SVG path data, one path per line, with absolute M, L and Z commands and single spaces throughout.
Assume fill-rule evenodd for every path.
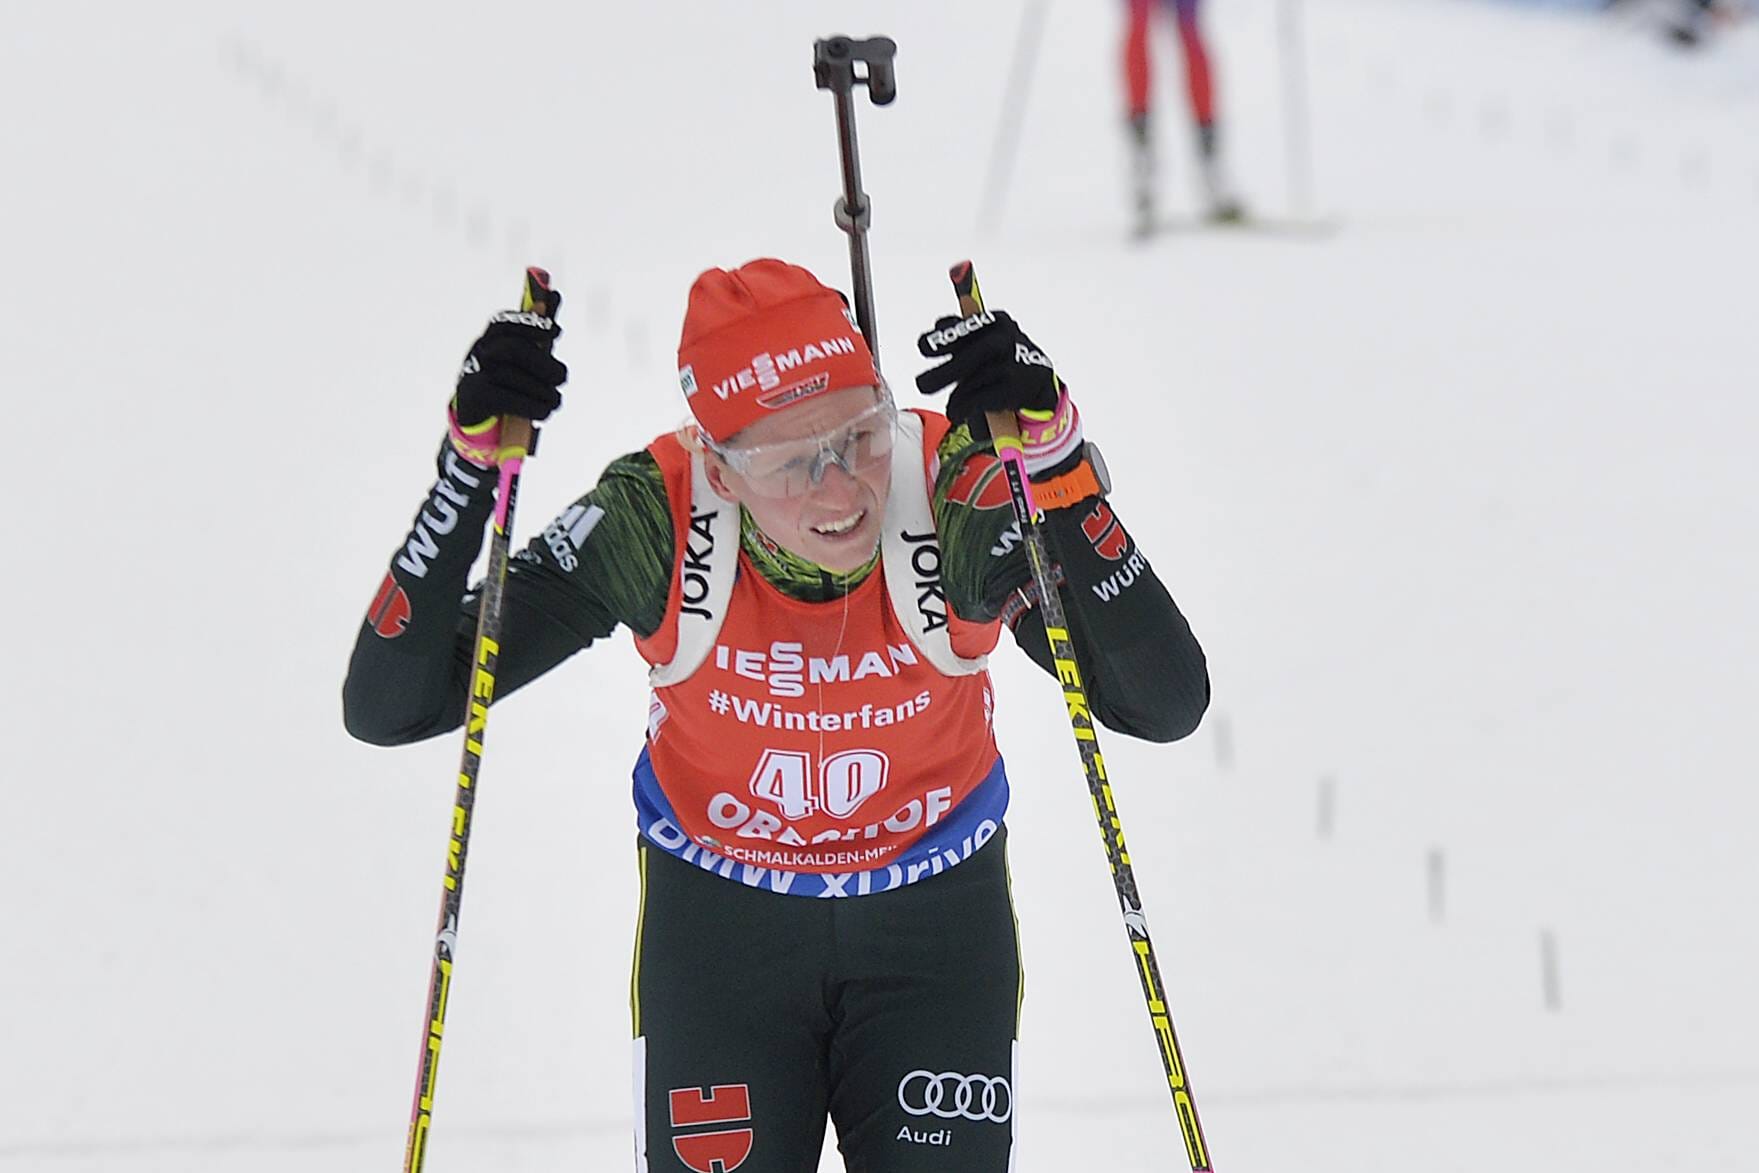
M 1156 204 L 1156 149 L 1150 123 L 1152 53 L 1149 30 L 1154 9 L 1170 9 L 1179 28 L 1179 44 L 1186 56 L 1186 93 L 1191 102 L 1191 121 L 1196 127 L 1198 179 L 1207 202 L 1208 220 L 1235 223 L 1245 216 L 1245 208 L 1233 188 L 1223 160 L 1221 132 L 1215 125 L 1215 86 L 1210 72 L 1208 49 L 1198 26 L 1198 0 L 1126 0 L 1129 16 L 1124 30 L 1124 84 L 1129 102 L 1131 179 L 1136 197 L 1136 232 L 1154 230 Z

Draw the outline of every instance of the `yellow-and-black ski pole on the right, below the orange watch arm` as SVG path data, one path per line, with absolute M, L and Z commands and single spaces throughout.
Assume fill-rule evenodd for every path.
M 948 276 L 953 280 L 953 292 L 959 294 L 959 311 L 967 317 L 983 313 L 983 294 L 971 262 L 960 260 Z M 1050 658 L 1055 661 L 1057 679 L 1062 682 L 1069 730 L 1075 733 L 1075 747 L 1082 754 L 1087 793 L 1092 797 L 1094 818 L 1099 821 L 1106 862 L 1112 865 L 1112 886 L 1117 890 L 1117 902 L 1124 911 L 1124 930 L 1136 953 L 1136 976 L 1142 978 L 1142 997 L 1149 1002 L 1149 1020 L 1154 1024 L 1154 1036 L 1161 1050 L 1161 1067 L 1166 1071 L 1166 1083 L 1173 1092 L 1173 1113 L 1179 1117 L 1179 1131 L 1186 1141 L 1186 1157 L 1191 1161 L 1193 1173 L 1208 1173 L 1214 1168 L 1208 1143 L 1203 1140 L 1203 1124 L 1198 1120 L 1198 1103 L 1186 1075 L 1179 1036 L 1173 1034 L 1173 1016 L 1166 1008 L 1166 987 L 1161 983 L 1161 964 L 1154 958 L 1154 943 L 1149 939 L 1149 920 L 1142 913 L 1136 872 L 1129 865 L 1129 848 L 1124 846 L 1124 823 L 1112 800 L 1112 784 L 1106 781 L 1099 732 L 1094 728 L 1087 689 L 1082 686 L 1082 670 L 1075 661 L 1075 644 L 1069 640 L 1068 619 L 1062 614 L 1062 596 L 1057 594 L 1057 584 L 1052 580 L 1045 531 L 1040 524 L 1045 514 L 1033 501 L 1033 482 L 1025 475 L 1020 426 L 1011 412 L 989 412 L 985 419 L 996 443 L 996 455 L 1008 477 L 1013 517 L 1020 522 L 1020 535 L 1025 538 L 1025 559 L 1033 568 L 1033 582 L 1038 584 L 1038 608 L 1045 619 Z

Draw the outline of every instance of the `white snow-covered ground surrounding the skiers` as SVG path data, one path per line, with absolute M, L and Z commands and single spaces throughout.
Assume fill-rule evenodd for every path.
M 1210 7 L 1242 188 L 1286 216 L 1279 5 Z M 0 1169 L 398 1166 L 457 744 L 354 744 L 338 689 L 452 373 L 549 266 L 573 380 L 522 540 L 679 419 L 698 269 L 846 283 L 834 32 L 901 46 L 858 113 L 894 382 L 973 257 L 1208 649 L 1203 730 L 1106 756 L 1217 1166 L 1755 1168 L 1759 28 L 1682 56 L 1309 0 L 1339 230 L 1138 246 L 1113 4 L 1045 9 L 978 223 L 1024 12 L 7 21 Z M 1059 698 L 1024 656 L 997 682 L 1018 1168 L 1184 1168 Z M 434 1173 L 628 1168 L 644 716 L 621 637 L 496 710 Z

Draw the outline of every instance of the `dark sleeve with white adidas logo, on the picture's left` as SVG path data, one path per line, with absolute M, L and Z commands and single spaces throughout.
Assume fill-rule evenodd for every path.
M 454 730 L 468 705 L 478 600 L 466 582 L 494 508 L 496 475 L 461 461 L 450 445 L 442 447 L 438 470 L 368 608 L 343 681 L 343 725 L 375 746 L 401 746 Z M 595 503 L 603 485 L 602 480 L 552 521 L 544 536 L 508 559 L 496 700 L 626 619 L 595 589 L 598 575 L 575 573 L 582 563 L 602 565 L 579 557 L 577 547 L 603 515 Z M 663 610 L 668 565 L 660 559 L 651 565 L 660 575 Z

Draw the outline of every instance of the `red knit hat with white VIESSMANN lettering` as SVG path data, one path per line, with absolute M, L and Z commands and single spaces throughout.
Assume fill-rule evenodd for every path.
M 811 396 L 874 387 L 880 371 L 836 290 L 763 257 L 709 269 L 690 287 L 677 378 L 697 424 L 719 443 Z

